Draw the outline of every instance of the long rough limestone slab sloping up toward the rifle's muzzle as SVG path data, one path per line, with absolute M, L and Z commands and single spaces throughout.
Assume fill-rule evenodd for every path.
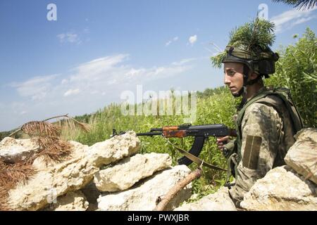
M 80 143 L 76 147 L 82 146 Z M 134 132 L 96 143 L 94 146 L 80 147 L 76 157 L 57 165 L 37 166 L 39 172 L 27 184 L 18 184 L 9 192 L 8 203 L 12 210 L 39 210 L 60 195 L 85 187 L 99 171 L 107 165 L 139 150 L 139 139 Z M 76 152 L 76 151 L 75 151 Z

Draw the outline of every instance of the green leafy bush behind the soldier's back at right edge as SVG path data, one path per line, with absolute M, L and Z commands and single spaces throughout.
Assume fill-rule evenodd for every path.
M 266 85 L 290 89 L 306 127 L 317 127 L 317 39 L 309 28 L 292 46 L 279 52 L 276 72 Z

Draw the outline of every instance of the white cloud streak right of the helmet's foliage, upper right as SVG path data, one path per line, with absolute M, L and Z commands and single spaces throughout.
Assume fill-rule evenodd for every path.
M 317 7 L 311 8 L 307 11 L 299 11 L 292 9 L 290 11 L 285 11 L 280 15 L 275 15 L 271 18 L 271 22 L 275 24 L 275 33 L 283 32 L 284 30 L 289 30 L 295 25 L 305 23 L 313 18 L 316 18 L 316 15 L 311 15 Z

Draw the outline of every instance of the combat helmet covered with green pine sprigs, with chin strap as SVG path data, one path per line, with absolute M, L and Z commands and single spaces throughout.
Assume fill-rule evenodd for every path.
M 256 18 L 232 30 L 225 51 L 211 57 L 213 65 L 220 68 L 221 63 L 243 63 L 244 87 L 257 80 L 247 82 L 249 70 L 258 74 L 258 79 L 268 78 L 275 72 L 275 62 L 279 58 L 270 48 L 275 40 L 274 27 L 273 23 Z

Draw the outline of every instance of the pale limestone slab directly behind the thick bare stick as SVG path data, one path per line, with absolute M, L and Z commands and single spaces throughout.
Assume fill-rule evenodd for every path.
M 185 165 L 157 172 L 154 176 L 139 182 L 134 188 L 119 193 L 104 193 L 98 198 L 99 210 L 106 211 L 144 211 L 154 210 L 156 200 L 163 198 L 175 184 L 190 173 Z M 187 185 L 175 196 L 166 210 L 173 210 L 192 195 L 192 184 Z

